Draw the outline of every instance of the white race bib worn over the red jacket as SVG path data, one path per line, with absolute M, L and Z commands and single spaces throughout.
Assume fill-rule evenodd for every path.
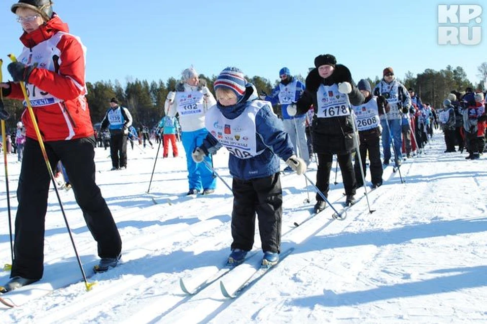
M 61 37 L 66 34 L 69 35 L 68 33 L 59 31 L 47 41 L 41 42 L 40 44 L 34 46 L 32 49 L 24 48 L 22 54 L 20 54 L 18 57 L 18 61 L 26 65 L 34 65 L 34 63 L 37 63 L 37 66 L 39 68 L 58 72 L 59 67 L 56 67 L 55 64 L 58 63 L 61 52 L 57 48 L 57 44 L 59 43 Z M 75 37 L 81 44 L 83 53 L 84 55 L 86 55 L 86 47 L 81 43 L 80 38 L 76 36 L 73 37 Z M 73 82 L 75 82 L 75 80 L 73 80 Z M 78 83 L 75 82 L 75 84 L 81 88 Z M 29 101 L 32 107 L 47 106 L 62 101 L 61 99 L 54 97 L 50 93 L 43 91 L 37 86 L 26 83 L 25 88 L 27 90 L 27 95 L 29 96 Z

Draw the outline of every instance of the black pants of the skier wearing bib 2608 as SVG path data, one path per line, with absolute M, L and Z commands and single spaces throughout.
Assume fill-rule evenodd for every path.
M 362 168 L 364 170 L 364 177 L 367 175 L 367 166 L 365 159 L 367 152 L 370 161 L 370 176 L 373 185 L 382 184 L 382 163 L 380 161 L 380 137 L 363 137 L 360 136 L 360 157 L 362 158 Z M 355 154 L 355 179 L 357 179 L 357 187 L 364 185 L 362 180 L 362 173 L 360 172 L 359 154 Z

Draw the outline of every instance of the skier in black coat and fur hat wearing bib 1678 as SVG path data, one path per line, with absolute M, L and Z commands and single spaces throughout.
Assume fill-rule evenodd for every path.
M 333 55 L 317 56 L 315 67 L 306 77 L 306 90 L 296 106 L 288 107 L 288 113 L 303 114 L 314 105 L 313 150 L 318 154 L 316 186 L 325 197 L 328 196 L 333 154 L 337 154 L 345 187 L 345 205 L 350 206 L 355 203 L 357 189 L 352 165 L 356 134 L 354 135 L 350 104 L 362 104 L 364 96 L 355 86 L 350 70 L 344 65 L 336 64 Z M 316 195 L 316 200 L 315 212 L 319 213 L 325 208 L 325 202 L 319 194 Z

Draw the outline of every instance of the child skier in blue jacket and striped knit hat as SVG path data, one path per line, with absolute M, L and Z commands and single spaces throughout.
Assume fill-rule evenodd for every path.
M 254 245 L 255 214 L 264 258 L 269 267 L 279 261 L 283 194 L 279 158 L 298 174 L 306 163 L 295 155 L 281 119 L 266 101 L 258 100 L 255 87 L 236 67 L 224 69 L 214 84 L 217 104 L 205 116 L 209 134 L 192 157 L 196 163 L 222 146 L 230 152 L 228 168 L 233 176 L 233 212 L 229 265 L 245 259 Z

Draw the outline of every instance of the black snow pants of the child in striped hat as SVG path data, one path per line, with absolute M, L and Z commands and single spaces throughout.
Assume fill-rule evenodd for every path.
M 283 190 L 279 173 L 251 180 L 233 178 L 231 249 L 252 250 L 255 215 L 264 252 L 281 252 Z

